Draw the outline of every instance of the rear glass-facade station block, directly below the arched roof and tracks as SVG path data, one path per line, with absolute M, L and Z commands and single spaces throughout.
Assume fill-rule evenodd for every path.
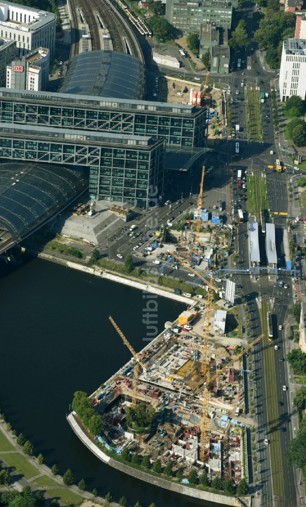
M 188 104 L 0 89 L 0 121 L 40 127 L 145 135 L 204 146 L 206 110 Z

